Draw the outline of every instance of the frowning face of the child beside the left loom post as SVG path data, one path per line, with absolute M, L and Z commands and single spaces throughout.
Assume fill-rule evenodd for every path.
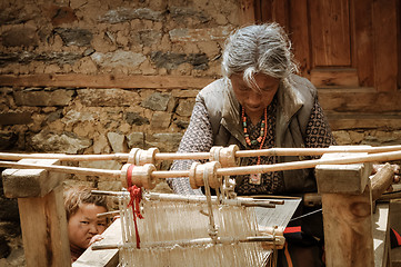
M 88 248 L 90 239 L 102 234 L 107 228 L 106 218 L 97 218 L 97 214 L 106 212 L 107 209 L 94 204 L 83 204 L 77 214 L 68 221 L 68 237 L 70 246 Z

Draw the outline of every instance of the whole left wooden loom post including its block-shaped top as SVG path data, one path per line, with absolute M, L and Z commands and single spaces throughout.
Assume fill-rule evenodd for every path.
M 58 165 L 57 159 L 22 159 L 23 164 Z M 18 198 L 27 266 L 71 266 L 63 206 L 63 174 L 43 169 L 6 169 L 4 196 Z

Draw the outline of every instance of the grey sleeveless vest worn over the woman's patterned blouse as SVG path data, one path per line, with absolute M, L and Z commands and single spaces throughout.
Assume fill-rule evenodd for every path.
M 304 147 L 307 125 L 317 98 L 317 89 L 307 79 L 292 75 L 280 83 L 277 92 L 275 146 L 288 148 Z M 247 147 L 242 134 L 240 105 L 231 86 L 219 79 L 203 88 L 197 101 L 208 110 L 213 130 L 214 146 L 238 145 Z M 279 157 L 279 162 L 297 161 L 298 157 Z M 247 165 L 243 158 L 241 165 Z M 317 185 L 311 169 L 285 170 L 284 194 L 315 191 Z

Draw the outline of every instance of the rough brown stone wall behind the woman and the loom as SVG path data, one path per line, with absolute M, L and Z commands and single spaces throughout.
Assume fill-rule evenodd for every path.
M 0 75 L 220 76 L 237 0 L 3 0 Z M 0 151 L 176 151 L 199 88 L 0 88 Z M 340 145 L 400 144 L 401 131 L 334 131 Z M 170 162 L 163 162 L 168 169 Z M 119 169 L 117 161 L 71 164 Z M 117 180 L 72 176 L 104 190 Z M 166 187 L 159 190 L 168 190 Z M 21 266 L 16 199 L 0 187 L 0 266 Z M 6 259 L 7 258 L 7 259 Z

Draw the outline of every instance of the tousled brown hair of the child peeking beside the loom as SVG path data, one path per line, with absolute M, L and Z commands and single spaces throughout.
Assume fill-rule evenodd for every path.
M 104 196 L 93 195 L 93 188 L 87 186 L 73 186 L 64 190 L 64 208 L 67 214 L 67 221 L 74 215 L 82 204 L 94 204 L 96 206 L 108 209 L 108 202 Z

